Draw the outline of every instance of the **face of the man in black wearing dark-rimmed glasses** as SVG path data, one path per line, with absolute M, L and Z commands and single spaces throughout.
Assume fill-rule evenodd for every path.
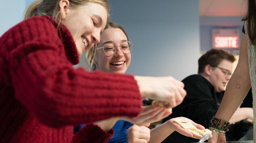
M 223 60 L 218 67 L 224 68 L 232 72 L 232 62 L 229 60 Z M 225 90 L 225 86 L 229 81 L 231 75 L 226 76 L 225 71 L 217 67 L 210 67 L 210 75 L 208 81 L 214 86 L 216 92 L 221 92 Z

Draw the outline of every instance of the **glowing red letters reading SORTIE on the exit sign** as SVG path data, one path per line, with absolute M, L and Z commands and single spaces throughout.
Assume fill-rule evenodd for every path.
M 237 36 L 215 36 L 214 37 L 215 48 L 238 48 Z

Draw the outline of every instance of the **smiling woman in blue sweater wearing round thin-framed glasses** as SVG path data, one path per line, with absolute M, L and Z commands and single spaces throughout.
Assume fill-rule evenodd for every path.
M 85 59 L 86 63 L 89 65 L 89 70 L 101 70 L 108 73 L 124 74 L 131 63 L 131 52 L 133 50 L 133 45 L 134 44 L 129 41 L 127 33 L 120 24 L 109 22 L 101 34 L 100 42 L 86 53 Z M 123 85 L 120 84 L 119 87 L 115 88 L 122 89 L 122 86 Z M 102 96 L 104 97 L 104 95 Z M 129 97 L 127 97 L 127 100 L 130 100 Z M 157 105 L 146 106 L 143 108 L 143 110 L 147 110 L 155 106 Z M 162 107 L 160 108 L 161 111 L 158 113 L 158 115 L 156 115 L 159 120 L 172 113 L 167 109 Z M 108 143 L 159 143 L 174 131 L 178 131 L 179 133 L 182 133 L 188 137 L 199 139 L 199 137 L 195 137 L 192 133 L 181 128 L 177 123 L 174 123 L 174 119 L 171 119 L 151 130 L 146 124 L 144 124 L 145 126 L 138 126 L 128 122 L 136 120 L 136 118 L 133 118 L 132 120 L 124 118 L 123 120 L 119 119 L 122 118 L 109 119 L 95 123 L 100 127 L 112 127 L 114 125 L 113 123 L 115 123 L 113 127 L 114 136 L 110 139 L 110 141 L 108 141 Z M 179 117 L 179 119 L 187 118 Z M 191 123 L 198 127 L 198 129 L 204 129 L 204 127 L 194 123 L 193 121 L 191 121 Z M 81 128 L 81 126 L 78 128 Z

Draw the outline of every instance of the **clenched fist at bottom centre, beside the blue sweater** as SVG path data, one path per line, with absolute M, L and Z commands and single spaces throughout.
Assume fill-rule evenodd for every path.
M 147 143 L 150 139 L 150 129 L 133 125 L 127 130 L 127 139 L 128 143 Z

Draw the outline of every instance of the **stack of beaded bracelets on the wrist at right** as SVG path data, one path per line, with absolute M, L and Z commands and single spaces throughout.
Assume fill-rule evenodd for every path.
M 215 117 L 212 117 L 209 129 L 210 131 L 216 132 L 220 135 L 225 135 L 225 133 L 229 131 L 229 124 L 229 122 L 223 119 L 217 119 Z

